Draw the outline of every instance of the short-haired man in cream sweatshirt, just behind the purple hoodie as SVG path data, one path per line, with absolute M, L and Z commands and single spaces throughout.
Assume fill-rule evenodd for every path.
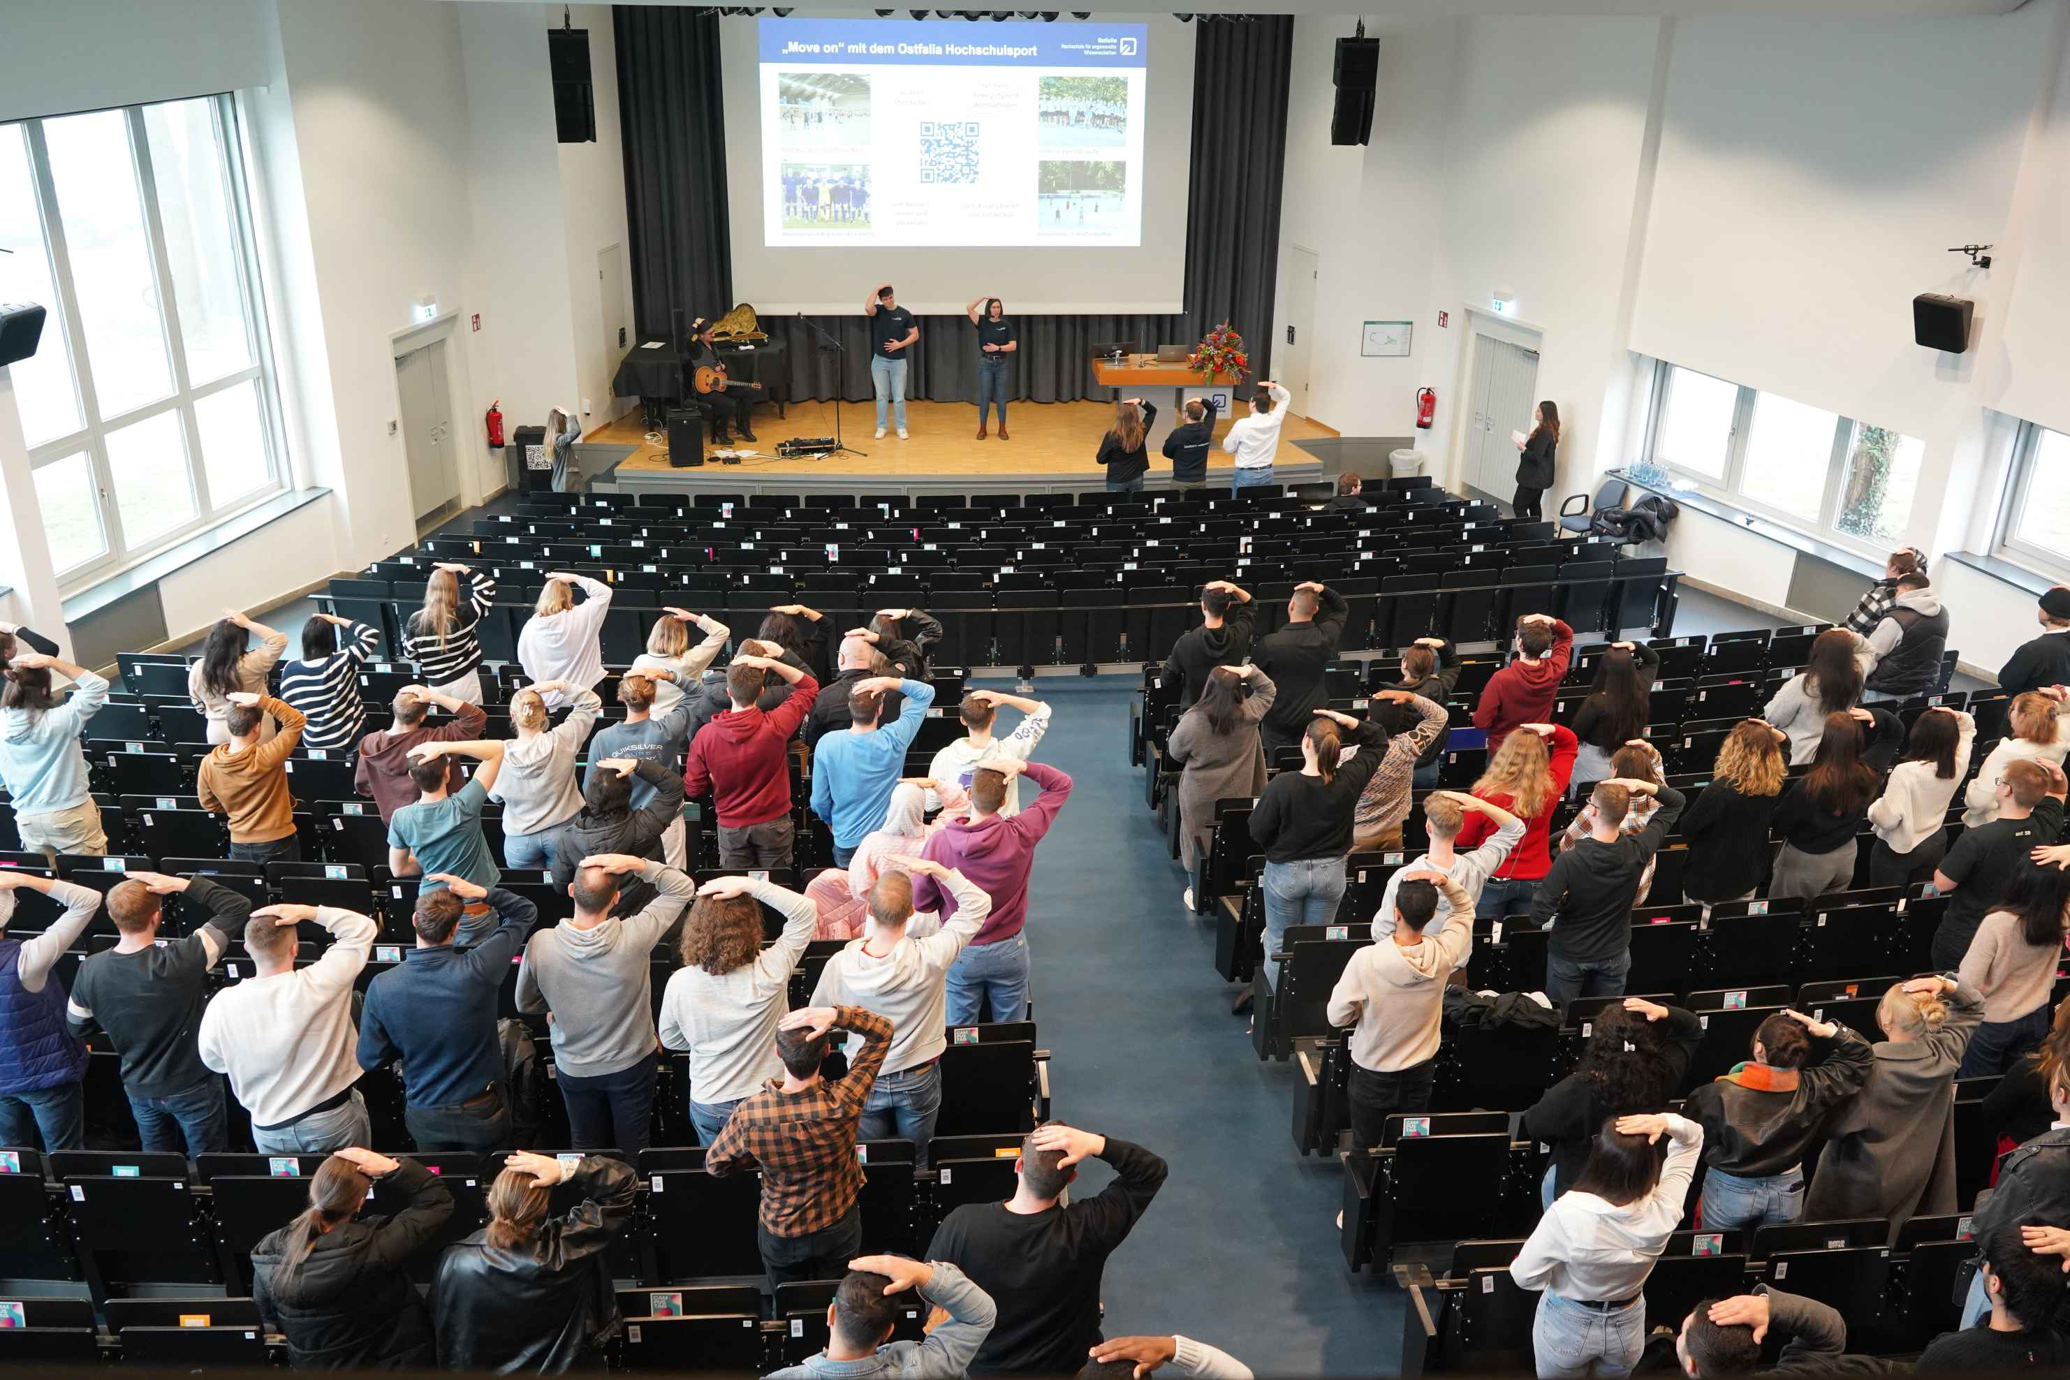
M 929 877 L 956 898 L 944 925 L 913 914 L 913 877 Z M 859 1006 L 892 1022 L 884 1057 L 857 1140 L 911 1140 L 915 1163 L 927 1167 L 927 1142 L 942 1111 L 942 1014 L 948 966 L 992 914 L 992 898 L 960 871 L 925 859 L 886 854 L 869 888 L 869 923 L 820 970 L 811 1006 Z

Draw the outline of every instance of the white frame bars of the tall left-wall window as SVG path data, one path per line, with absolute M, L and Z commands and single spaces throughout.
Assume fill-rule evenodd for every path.
M 130 147 L 130 170 L 137 180 L 137 194 L 143 205 L 145 250 L 151 257 L 151 279 L 157 296 L 159 321 L 164 325 L 164 348 L 170 352 L 172 391 L 155 401 L 130 408 L 116 416 L 103 416 L 93 383 L 93 360 L 89 358 L 85 331 L 81 327 L 79 294 L 72 279 L 70 246 L 66 242 L 64 217 L 58 207 L 56 180 L 50 166 L 50 149 L 43 134 L 43 120 L 21 120 L 23 139 L 29 153 L 29 174 L 35 186 L 37 221 L 43 232 L 43 252 L 48 257 L 56 302 L 50 304 L 46 335 L 56 335 L 68 354 L 72 389 L 79 399 L 83 424 L 62 437 L 37 443 L 29 451 L 29 468 L 70 459 L 85 451 L 87 474 L 93 484 L 93 507 L 101 523 L 106 550 L 97 557 L 60 565 L 64 552 L 52 550 L 52 565 L 62 596 L 79 594 L 93 583 L 124 569 L 141 565 L 168 546 L 176 546 L 209 528 L 230 521 L 267 499 L 288 488 L 288 445 L 282 426 L 279 381 L 273 368 L 273 339 L 267 329 L 265 281 L 259 273 L 259 240 L 253 226 L 250 182 L 244 166 L 244 141 L 240 137 L 236 101 L 228 93 L 207 97 L 215 157 L 224 178 L 224 201 L 232 213 L 230 248 L 236 254 L 236 275 L 240 286 L 240 310 L 244 317 L 244 339 L 250 346 L 250 362 L 203 385 L 195 385 L 188 374 L 186 339 L 180 329 L 178 288 L 172 275 L 172 250 L 166 240 L 164 215 L 157 199 L 157 172 L 151 163 L 151 139 L 145 126 L 147 106 L 174 101 L 149 101 L 147 106 L 124 106 L 124 132 Z M 52 116 L 62 118 L 62 116 Z M 207 461 L 201 451 L 201 422 L 195 403 L 224 393 L 244 383 L 255 385 L 261 414 L 261 439 L 265 445 L 265 482 L 248 492 L 213 501 L 209 494 Z M 128 542 L 122 530 L 122 501 L 116 492 L 114 472 L 108 461 L 108 437 L 137 422 L 147 422 L 159 414 L 174 412 L 180 418 L 182 463 L 186 468 L 188 492 L 195 501 L 195 515 L 145 542 Z M 41 515 L 39 515 L 41 521 Z

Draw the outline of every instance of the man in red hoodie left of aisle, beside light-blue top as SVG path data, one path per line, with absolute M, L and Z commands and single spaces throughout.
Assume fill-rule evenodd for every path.
M 756 699 L 770 674 L 791 683 L 791 695 L 764 714 Z M 820 683 L 797 666 L 739 654 L 727 666 L 731 710 L 689 741 L 685 794 L 712 794 L 718 809 L 718 865 L 727 869 L 791 865 L 791 734 L 811 714 Z

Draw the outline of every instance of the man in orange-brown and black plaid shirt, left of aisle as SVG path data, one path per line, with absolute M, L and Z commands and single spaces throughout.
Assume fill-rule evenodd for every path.
M 828 1030 L 859 1034 L 863 1047 L 847 1078 L 820 1078 Z M 793 1279 L 845 1274 L 863 1248 L 863 1214 L 855 1194 L 863 1167 L 855 1159 L 855 1123 L 869 1103 L 892 1022 L 859 1006 L 807 1006 L 776 1024 L 782 1082 L 733 1109 L 704 1154 L 712 1173 L 762 1167 L 762 1210 L 756 1235 L 770 1293 Z

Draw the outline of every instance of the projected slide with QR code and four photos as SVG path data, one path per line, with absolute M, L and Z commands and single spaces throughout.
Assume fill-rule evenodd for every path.
M 1143 242 L 1147 25 L 756 27 L 768 248 Z

